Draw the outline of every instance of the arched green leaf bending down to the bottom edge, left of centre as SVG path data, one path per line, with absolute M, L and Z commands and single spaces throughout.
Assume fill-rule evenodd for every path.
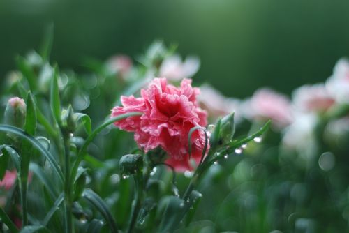
M 98 211 L 102 214 L 103 218 L 107 221 L 110 232 L 117 233 L 117 223 L 115 223 L 114 218 L 112 217 L 112 213 L 110 213 L 107 208 L 107 204 L 99 197 L 94 191 L 91 189 L 85 189 L 82 193 L 82 197 L 84 197 L 89 203 L 91 203 Z

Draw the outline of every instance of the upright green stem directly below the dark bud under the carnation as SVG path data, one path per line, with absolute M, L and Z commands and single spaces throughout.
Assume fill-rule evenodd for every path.
M 138 171 L 135 174 L 134 179 L 135 179 L 135 199 L 133 200 L 131 220 L 127 230 L 128 233 L 133 232 L 133 229 L 135 228 L 135 223 L 137 221 L 138 213 L 140 212 L 142 195 L 143 195 L 142 172 Z

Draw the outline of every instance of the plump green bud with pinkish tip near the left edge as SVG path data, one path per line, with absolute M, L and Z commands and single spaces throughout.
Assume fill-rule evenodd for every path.
M 5 123 L 23 128 L 27 114 L 27 105 L 22 98 L 14 97 L 8 100 L 5 110 Z

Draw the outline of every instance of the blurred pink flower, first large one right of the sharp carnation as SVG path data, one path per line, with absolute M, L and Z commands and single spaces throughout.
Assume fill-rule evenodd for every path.
M 253 121 L 272 119 L 273 126 L 284 128 L 292 122 L 290 100 L 272 89 L 262 88 L 243 105 L 244 115 Z

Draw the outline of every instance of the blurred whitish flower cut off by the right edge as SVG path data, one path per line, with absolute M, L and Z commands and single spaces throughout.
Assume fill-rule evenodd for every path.
M 340 59 L 326 82 L 329 93 L 339 103 L 349 103 L 349 61 Z

